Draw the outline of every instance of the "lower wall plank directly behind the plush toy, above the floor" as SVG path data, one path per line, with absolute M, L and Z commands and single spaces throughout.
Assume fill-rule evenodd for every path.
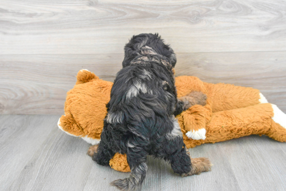
M 0 55 L 1 114 L 63 114 L 80 69 L 113 81 L 123 54 Z M 286 52 L 178 53 L 176 76 L 259 89 L 286 112 Z

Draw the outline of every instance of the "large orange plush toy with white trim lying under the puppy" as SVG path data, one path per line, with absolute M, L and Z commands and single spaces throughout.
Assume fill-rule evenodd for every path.
M 100 142 L 113 83 L 88 70 L 80 70 L 73 89 L 67 92 L 65 115 L 58 127 L 92 145 Z M 175 82 L 178 97 L 192 91 L 207 95 L 205 106 L 194 105 L 177 115 L 187 148 L 216 143 L 252 134 L 286 141 L 286 114 L 268 103 L 259 90 L 230 84 L 205 83 L 194 76 L 179 76 Z M 92 148 L 91 148 L 92 149 Z M 128 172 L 126 155 L 116 153 L 111 168 Z

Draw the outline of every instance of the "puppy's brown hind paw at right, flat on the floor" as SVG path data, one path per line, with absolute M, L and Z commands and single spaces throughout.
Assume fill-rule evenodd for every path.
M 201 172 L 207 172 L 212 170 L 212 163 L 208 158 L 191 158 L 191 171 L 187 174 L 182 174 L 182 176 L 191 176 L 194 174 L 200 174 Z

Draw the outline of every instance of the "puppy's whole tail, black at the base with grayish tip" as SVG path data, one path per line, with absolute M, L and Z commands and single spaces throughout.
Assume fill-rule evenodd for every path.
M 118 179 L 110 184 L 119 190 L 137 190 L 141 187 L 147 172 L 147 153 L 138 146 L 128 148 L 127 162 L 131 175 L 125 179 Z

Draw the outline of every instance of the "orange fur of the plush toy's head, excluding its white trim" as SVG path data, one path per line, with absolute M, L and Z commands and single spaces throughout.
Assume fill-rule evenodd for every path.
M 60 120 L 62 130 L 99 140 L 112 85 L 87 70 L 79 71 L 76 85 L 67 92 L 65 115 Z

